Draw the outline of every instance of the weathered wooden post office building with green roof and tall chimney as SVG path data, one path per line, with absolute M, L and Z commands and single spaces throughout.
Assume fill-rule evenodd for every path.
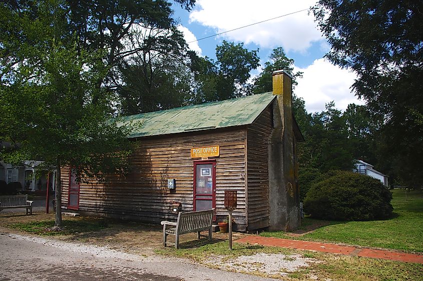
M 273 92 L 126 117 L 142 125 L 130 173 L 106 184 L 78 184 L 62 169 L 63 208 L 86 215 L 160 223 L 182 211 L 215 208 L 227 218 L 225 190 L 237 191 L 234 229 L 299 226 L 291 77 L 273 74 Z

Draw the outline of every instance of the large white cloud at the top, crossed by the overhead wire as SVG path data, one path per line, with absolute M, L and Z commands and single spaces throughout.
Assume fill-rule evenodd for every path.
M 217 33 L 308 9 L 315 0 L 197 0 L 191 22 L 215 28 Z M 255 43 L 261 48 L 282 46 L 286 52 L 305 52 L 313 41 L 322 40 L 314 18 L 307 11 L 221 35 L 236 42 Z

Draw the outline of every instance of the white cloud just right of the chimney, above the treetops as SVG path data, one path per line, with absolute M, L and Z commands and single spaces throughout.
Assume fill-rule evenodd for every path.
M 325 59 L 315 60 L 312 65 L 304 69 L 295 68 L 294 71 L 304 72 L 294 91 L 298 97 L 304 99 L 309 113 L 324 110 L 325 104 L 330 101 L 335 101 L 335 107 L 340 110 L 345 110 L 350 103 L 364 104 L 350 90 L 356 75 Z

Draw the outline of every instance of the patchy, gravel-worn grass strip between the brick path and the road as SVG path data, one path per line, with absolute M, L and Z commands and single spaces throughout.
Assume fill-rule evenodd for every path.
M 377 258 L 336 255 L 322 252 L 302 251 L 295 249 L 267 247 L 261 245 L 251 245 L 234 243 L 233 250 L 228 250 L 228 242 L 222 241 L 209 243 L 202 241 L 192 241 L 185 243 L 184 248 L 175 249 L 166 247 L 156 250 L 156 253 L 177 257 L 184 257 L 206 264 L 212 268 L 222 268 L 218 262 L 210 264 L 210 259 L 225 260 L 231 263 L 239 263 L 236 258 L 239 256 L 254 255 L 257 253 L 287 255 L 286 260 L 291 260 L 290 256 L 299 255 L 311 258 L 314 262 L 309 266 L 299 268 L 288 275 L 278 276 L 253 271 L 249 274 L 280 278 L 285 281 L 309 281 L 309 280 L 338 280 L 338 281 L 414 281 L 423 278 L 423 265 L 419 263 L 399 262 Z M 207 262 L 208 261 L 208 262 Z M 207 263 L 204 263 L 207 262 Z M 237 270 L 234 270 L 237 271 Z M 243 271 L 238 271 L 243 272 Z M 281 269 L 281 272 L 285 272 Z M 286 271 L 288 272 L 288 271 Z M 245 273 L 245 272 L 244 272 Z M 314 276 L 313 278 L 311 278 Z

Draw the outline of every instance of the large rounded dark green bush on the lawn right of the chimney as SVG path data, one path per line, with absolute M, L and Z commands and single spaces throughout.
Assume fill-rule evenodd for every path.
M 373 220 L 392 215 L 392 194 L 379 180 L 347 171 L 329 171 L 312 184 L 304 211 L 329 220 Z

